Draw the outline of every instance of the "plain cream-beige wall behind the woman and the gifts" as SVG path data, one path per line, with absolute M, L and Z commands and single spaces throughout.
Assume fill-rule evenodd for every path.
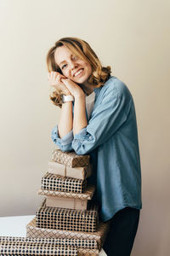
M 82 38 L 135 102 L 143 209 L 132 255 L 169 254 L 169 10 L 166 0 L 0 1 L 1 216 L 35 214 L 42 201 L 60 113 L 45 59 L 59 38 Z

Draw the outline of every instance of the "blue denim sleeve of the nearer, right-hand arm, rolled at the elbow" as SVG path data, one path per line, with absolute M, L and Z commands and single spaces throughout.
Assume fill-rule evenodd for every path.
M 71 143 L 77 154 L 88 154 L 105 143 L 127 120 L 131 101 L 127 96 L 105 96 L 92 113 L 88 125 L 75 134 Z

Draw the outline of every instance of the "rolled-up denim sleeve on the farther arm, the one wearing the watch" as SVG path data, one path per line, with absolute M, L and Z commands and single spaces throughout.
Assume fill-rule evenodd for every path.
M 59 137 L 58 125 L 54 126 L 51 133 L 51 138 L 54 143 L 61 149 L 61 151 L 71 151 L 73 150 L 71 143 L 73 141 L 73 130 L 69 131 L 64 137 Z

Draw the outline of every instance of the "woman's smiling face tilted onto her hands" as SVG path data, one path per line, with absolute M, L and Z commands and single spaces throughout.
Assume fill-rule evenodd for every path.
M 55 49 L 54 60 L 66 78 L 77 84 L 88 83 L 88 78 L 92 73 L 91 65 L 74 55 L 65 45 Z

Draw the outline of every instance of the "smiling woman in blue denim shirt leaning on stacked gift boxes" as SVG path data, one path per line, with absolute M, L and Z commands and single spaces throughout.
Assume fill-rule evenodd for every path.
M 47 55 L 51 100 L 61 108 L 52 139 L 62 151 L 89 154 L 99 217 L 111 221 L 104 250 L 128 256 L 139 224 L 141 172 L 133 97 L 89 44 L 61 38 Z M 64 94 L 65 96 L 61 97 Z

